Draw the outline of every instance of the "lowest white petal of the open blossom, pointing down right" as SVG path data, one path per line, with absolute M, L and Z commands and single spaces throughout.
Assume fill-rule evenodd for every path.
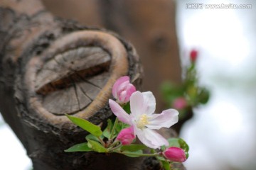
M 147 147 L 156 149 L 160 148 L 163 145 L 169 145 L 169 142 L 154 130 L 151 130 L 149 128 L 145 128 L 143 130 L 137 128 L 134 129 L 139 140 Z

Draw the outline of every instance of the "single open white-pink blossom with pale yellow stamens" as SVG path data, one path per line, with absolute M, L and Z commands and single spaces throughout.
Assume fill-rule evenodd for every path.
M 178 111 L 168 109 L 160 114 L 155 114 L 156 99 L 151 91 L 136 91 L 130 98 L 131 113 L 128 114 L 118 103 L 109 101 L 114 115 L 122 121 L 131 125 L 134 134 L 139 140 L 150 148 L 160 148 L 162 145 L 169 146 L 169 142 L 155 130 L 170 128 L 178 122 Z

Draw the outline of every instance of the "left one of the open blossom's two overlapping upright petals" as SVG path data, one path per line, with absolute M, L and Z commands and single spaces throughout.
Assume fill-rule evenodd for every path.
M 144 98 L 140 91 L 135 91 L 130 98 L 131 114 L 137 120 L 144 114 Z

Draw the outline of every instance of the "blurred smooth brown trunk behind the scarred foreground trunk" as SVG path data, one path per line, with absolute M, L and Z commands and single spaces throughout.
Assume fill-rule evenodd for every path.
M 144 67 L 142 89 L 156 97 L 156 112 L 166 109 L 160 93 L 163 81 L 181 83 L 181 64 L 176 37 L 176 1 L 170 0 L 42 0 L 56 16 L 114 30 L 136 47 Z M 179 120 L 172 128 L 179 132 Z

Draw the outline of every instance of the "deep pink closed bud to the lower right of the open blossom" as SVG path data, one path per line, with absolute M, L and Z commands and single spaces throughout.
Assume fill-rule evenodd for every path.
M 164 157 L 172 162 L 184 162 L 186 161 L 186 154 L 183 149 L 179 147 L 169 147 L 164 152 Z

